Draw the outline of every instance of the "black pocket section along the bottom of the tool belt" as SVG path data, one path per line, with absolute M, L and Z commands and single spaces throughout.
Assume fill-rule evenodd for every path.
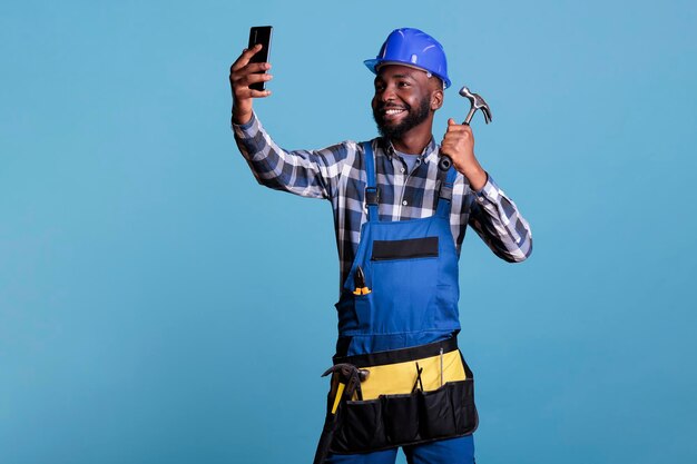
M 477 428 L 472 378 L 412 394 L 345 401 L 330 451 L 366 453 L 469 435 Z

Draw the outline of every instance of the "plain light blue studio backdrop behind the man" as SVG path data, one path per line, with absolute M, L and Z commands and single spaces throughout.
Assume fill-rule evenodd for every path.
M 534 236 L 470 233 L 481 463 L 697 462 L 694 1 L 23 1 L 0 14 L 0 462 L 303 463 L 335 338 L 328 203 L 258 187 L 228 68 L 273 24 L 286 148 L 375 135 L 397 27 L 493 111 L 477 154 Z

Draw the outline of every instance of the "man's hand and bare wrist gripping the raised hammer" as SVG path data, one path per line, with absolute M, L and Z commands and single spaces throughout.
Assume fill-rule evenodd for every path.
M 487 171 L 474 157 L 474 136 L 468 125 L 459 125 L 448 119 L 448 130 L 441 142 L 441 154 L 450 156 L 452 164 L 467 179 L 473 190 L 480 190 L 487 184 Z

